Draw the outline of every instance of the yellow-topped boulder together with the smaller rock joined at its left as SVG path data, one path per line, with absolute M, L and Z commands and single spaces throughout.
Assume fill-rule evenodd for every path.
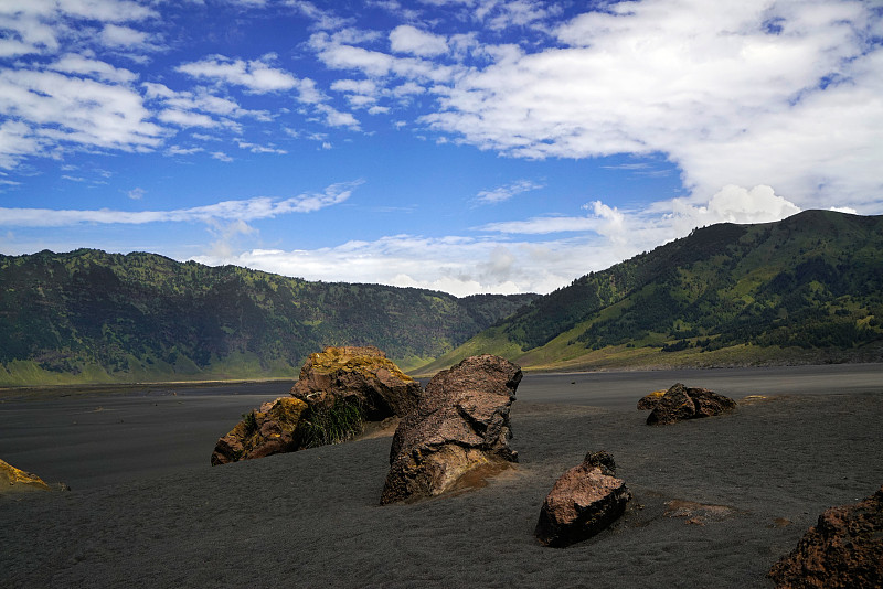
M 347 439 L 364 420 L 404 416 L 422 396 L 419 383 L 376 347 L 326 347 L 304 364 L 291 396 L 245 414 L 217 440 L 212 464 Z

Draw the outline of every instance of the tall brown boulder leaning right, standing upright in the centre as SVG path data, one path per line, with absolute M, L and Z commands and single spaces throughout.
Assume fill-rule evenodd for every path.
M 520 382 L 519 366 L 489 354 L 436 374 L 395 431 L 381 504 L 439 495 L 467 473 L 517 462 L 509 410 Z

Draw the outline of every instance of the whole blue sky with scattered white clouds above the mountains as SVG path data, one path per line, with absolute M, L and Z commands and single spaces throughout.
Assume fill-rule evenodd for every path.
M 0 253 L 549 292 L 695 226 L 881 214 L 882 15 L 3 0 Z

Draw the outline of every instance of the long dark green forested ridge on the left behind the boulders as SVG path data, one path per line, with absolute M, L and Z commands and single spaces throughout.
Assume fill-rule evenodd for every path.
M 536 296 L 308 282 L 79 249 L 0 256 L 0 385 L 296 377 L 325 345 L 407 370 Z

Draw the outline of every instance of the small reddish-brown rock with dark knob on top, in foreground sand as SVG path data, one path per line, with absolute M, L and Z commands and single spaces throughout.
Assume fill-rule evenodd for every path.
M 591 538 L 619 518 L 631 499 L 626 483 L 615 476 L 607 452 L 589 452 L 555 481 L 540 511 L 534 535 L 541 544 L 563 548 Z

